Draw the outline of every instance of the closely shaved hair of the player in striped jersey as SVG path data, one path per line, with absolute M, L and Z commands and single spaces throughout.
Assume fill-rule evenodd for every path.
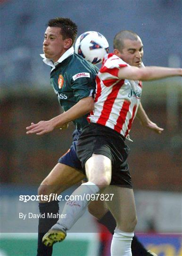
M 113 41 L 113 47 L 114 49 L 119 50 L 122 52 L 124 48 L 124 39 L 130 39 L 130 40 L 138 40 L 140 37 L 130 30 L 121 30 L 116 34 Z

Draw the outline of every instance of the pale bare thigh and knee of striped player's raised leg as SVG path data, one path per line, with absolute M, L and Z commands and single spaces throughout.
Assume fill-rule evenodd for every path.
M 111 182 L 111 160 L 105 155 L 92 154 L 85 163 L 85 171 L 88 180 L 100 187 Z

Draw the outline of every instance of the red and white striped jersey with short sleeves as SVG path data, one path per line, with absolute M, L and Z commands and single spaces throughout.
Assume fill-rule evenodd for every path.
M 121 80 L 120 68 L 129 66 L 114 54 L 104 57 L 102 67 L 96 77 L 96 97 L 94 110 L 88 119 L 112 128 L 126 137 L 141 99 L 141 81 Z

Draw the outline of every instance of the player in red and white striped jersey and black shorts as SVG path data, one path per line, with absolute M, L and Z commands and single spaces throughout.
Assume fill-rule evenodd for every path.
M 124 35 L 127 47 L 122 45 Z M 135 52 L 136 57 L 133 55 Z M 71 229 L 83 215 L 89 203 L 88 195 L 101 191 L 103 198 L 113 195 L 106 201 L 116 219 L 111 256 L 132 256 L 131 242 L 137 217 L 127 164 L 130 149 L 125 139 L 129 139 L 132 121 L 140 105 L 141 81 L 182 76 L 180 68 L 140 67 L 142 55 L 143 45 L 138 35 L 131 31 L 121 31 L 116 35 L 114 53 L 105 56 L 96 78 L 96 98 L 89 117 L 90 125 L 83 128 L 77 144 L 77 156 L 85 167 L 88 182 L 72 194 L 74 198 L 80 195 L 81 200 L 75 198 L 66 202 L 62 212 L 66 218 L 59 219 L 44 236 L 46 243 L 63 240 L 66 230 Z M 135 66 L 131 66 L 133 64 Z

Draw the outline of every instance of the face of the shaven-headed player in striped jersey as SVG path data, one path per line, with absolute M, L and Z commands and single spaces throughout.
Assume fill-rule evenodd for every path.
M 131 66 L 141 67 L 143 58 L 143 44 L 140 37 L 138 40 L 124 39 L 124 48 L 119 57 Z

